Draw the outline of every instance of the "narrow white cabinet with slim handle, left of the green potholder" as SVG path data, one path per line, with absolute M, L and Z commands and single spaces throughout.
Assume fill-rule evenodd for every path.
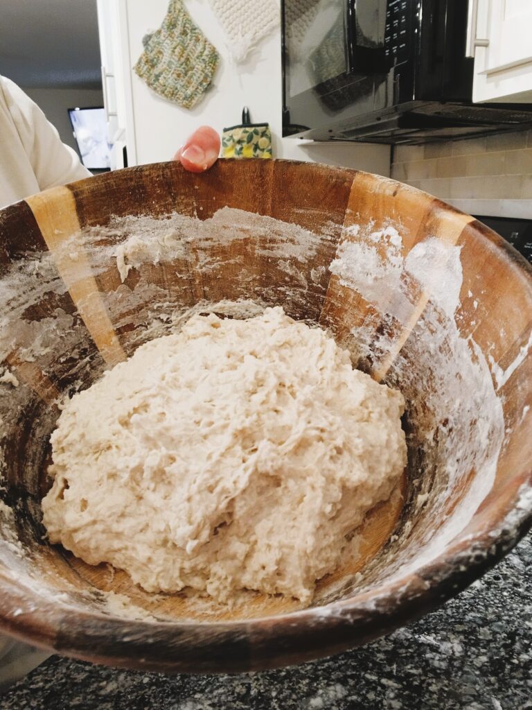
M 97 0 L 101 55 L 101 83 L 111 151 L 111 169 L 136 163 L 133 99 L 129 70 L 126 0 Z

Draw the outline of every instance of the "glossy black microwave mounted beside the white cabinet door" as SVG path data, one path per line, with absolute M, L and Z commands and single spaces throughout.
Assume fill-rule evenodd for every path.
M 532 127 L 472 104 L 468 0 L 282 0 L 283 136 L 426 143 Z

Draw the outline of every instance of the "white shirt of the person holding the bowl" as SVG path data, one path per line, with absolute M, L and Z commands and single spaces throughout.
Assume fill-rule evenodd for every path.
M 90 175 L 37 104 L 0 76 L 0 208 Z

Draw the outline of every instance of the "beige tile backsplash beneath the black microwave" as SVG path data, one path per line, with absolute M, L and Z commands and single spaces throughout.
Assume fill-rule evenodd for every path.
M 532 219 L 532 131 L 395 146 L 392 178 L 469 214 Z

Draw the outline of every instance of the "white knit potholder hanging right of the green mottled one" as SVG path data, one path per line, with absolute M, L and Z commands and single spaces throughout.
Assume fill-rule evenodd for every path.
M 235 62 L 242 62 L 260 40 L 279 26 L 276 0 L 210 0 Z

